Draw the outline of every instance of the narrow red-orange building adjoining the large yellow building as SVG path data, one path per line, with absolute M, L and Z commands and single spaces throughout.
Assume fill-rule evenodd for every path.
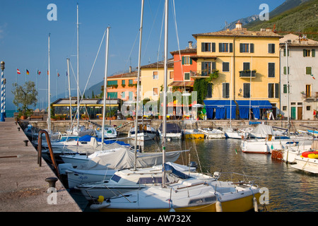
M 170 52 L 175 62 L 173 82 L 168 84 L 170 91 L 173 87 L 179 87 L 179 90 L 188 91 L 193 90 L 194 79 L 191 78 L 192 71 L 196 71 L 196 61 L 192 60 L 192 57 L 196 56 L 196 48 L 192 46 L 192 42 L 189 42 L 189 47 L 182 50 Z M 170 75 L 171 76 L 171 75 Z

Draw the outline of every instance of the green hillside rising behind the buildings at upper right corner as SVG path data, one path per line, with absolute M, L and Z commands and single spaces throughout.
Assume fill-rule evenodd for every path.
M 293 32 L 305 33 L 307 37 L 318 41 L 318 0 L 310 0 L 300 6 L 270 17 L 270 20 L 256 21 L 245 26 L 247 30 L 260 30 L 261 28 L 273 28 L 280 35 Z

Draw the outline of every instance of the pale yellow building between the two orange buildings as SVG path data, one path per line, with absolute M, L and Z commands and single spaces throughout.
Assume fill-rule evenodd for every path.
M 158 100 L 164 85 L 163 61 L 141 66 L 142 98 Z M 167 84 L 173 81 L 173 59 L 167 60 Z

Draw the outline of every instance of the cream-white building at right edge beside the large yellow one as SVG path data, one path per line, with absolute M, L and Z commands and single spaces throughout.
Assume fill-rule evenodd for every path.
M 318 42 L 293 34 L 285 35 L 280 42 L 281 114 L 289 114 L 290 119 L 314 119 L 318 110 Z

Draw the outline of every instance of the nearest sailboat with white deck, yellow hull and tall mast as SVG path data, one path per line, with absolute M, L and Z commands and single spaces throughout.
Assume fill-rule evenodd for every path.
M 253 182 L 221 182 L 220 174 L 199 179 L 165 164 L 167 114 L 167 16 L 165 0 L 165 84 L 163 88 L 163 167 L 162 183 L 129 191 L 122 196 L 99 199 L 90 208 L 101 211 L 247 211 L 257 204 L 259 188 Z

